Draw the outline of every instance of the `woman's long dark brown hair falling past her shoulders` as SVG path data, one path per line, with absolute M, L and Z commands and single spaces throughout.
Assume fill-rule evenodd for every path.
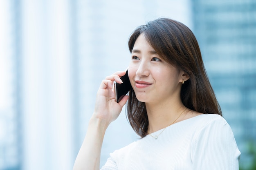
M 222 116 L 192 31 L 184 24 L 168 18 L 150 21 L 131 34 L 128 42 L 130 52 L 141 33 L 159 56 L 189 75 L 190 79 L 182 84 L 180 93 L 184 106 L 200 113 Z M 140 137 L 145 137 L 148 131 L 146 106 L 137 100 L 133 90 L 129 93 L 127 116 L 133 130 Z

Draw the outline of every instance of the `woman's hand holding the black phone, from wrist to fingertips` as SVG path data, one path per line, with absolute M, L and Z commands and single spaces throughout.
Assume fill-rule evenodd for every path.
M 123 83 L 120 77 L 125 75 L 125 73 L 125 71 L 119 71 L 106 77 L 102 80 L 97 92 L 96 104 L 92 117 L 100 119 L 106 126 L 117 119 L 123 106 L 128 100 L 128 96 L 126 95 L 119 103 L 117 103 L 115 101 L 115 92 L 113 90 L 114 80 L 117 83 Z

